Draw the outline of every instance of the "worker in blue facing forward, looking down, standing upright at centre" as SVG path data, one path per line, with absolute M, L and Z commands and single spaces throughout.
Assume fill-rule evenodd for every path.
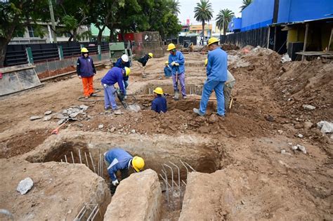
M 181 83 L 181 93 L 183 99 L 186 99 L 185 90 L 185 58 L 183 53 L 176 50 L 174 43 L 169 43 L 166 49 L 170 52 L 169 55 L 169 65 L 172 69 L 172 81 L 174 82 L 174 91 L 178 93 L 178 80 Z

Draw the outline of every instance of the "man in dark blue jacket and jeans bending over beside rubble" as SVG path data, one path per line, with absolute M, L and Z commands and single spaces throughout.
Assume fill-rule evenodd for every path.
M 115 83 L 118 83 L 120 91 L 123 95 L 125 95 L 125 88 L 123 78 L 124 76 L 129 76 L 131 69 L 129 67 L 119 68 L 119 67 L 112 67 L 103 79 L 101 80 L 102 86 L 104 88 L 104 109 L 105 111 L 112 108 L 113 110 L 119 109 L 117 107 L 117 103 L 115 100 Z

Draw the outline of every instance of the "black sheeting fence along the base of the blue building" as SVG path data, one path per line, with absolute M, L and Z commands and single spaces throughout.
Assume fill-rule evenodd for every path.
M 268 43 L 268 29 L 269 27 L 262 27 L 247 32 L 237 32 L 226 36 L 223 35 L 221 36 L 221 43 L 234 44 L 240 48 L 247 45 L 266 48 Z

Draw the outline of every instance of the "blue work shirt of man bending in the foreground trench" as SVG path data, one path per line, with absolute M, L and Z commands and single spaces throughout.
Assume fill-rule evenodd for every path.
M 115 181 L 117 180 L 116 173 L 118 170 L 130 168 L 129 163 L 131 163 L 133 156 L 124 151 L 124 149 L 115 148 L 105 152 L 104 159 L 110 163 L 110 166 L 107 168 L 107 173 L 109 173 L 111 180 Z

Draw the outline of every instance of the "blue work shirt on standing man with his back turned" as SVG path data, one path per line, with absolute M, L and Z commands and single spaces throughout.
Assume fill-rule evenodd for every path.
M 221 48 L 208 53 L 207 78 L 209 81 L 227 81 L 228 55 Z

